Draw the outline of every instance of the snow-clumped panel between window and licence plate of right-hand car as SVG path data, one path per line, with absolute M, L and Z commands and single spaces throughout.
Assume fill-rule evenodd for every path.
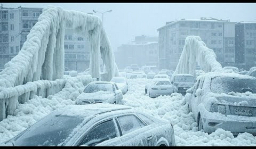
M 256 107 L 256 96 L 233 96 L 221 93 L 215 97 L 218 104 Z

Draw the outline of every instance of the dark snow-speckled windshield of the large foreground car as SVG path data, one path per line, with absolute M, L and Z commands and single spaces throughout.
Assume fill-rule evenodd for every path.
M 58 146 L 69 137 L 83 119 L 49 114 L 10 142 L 17 146 Z

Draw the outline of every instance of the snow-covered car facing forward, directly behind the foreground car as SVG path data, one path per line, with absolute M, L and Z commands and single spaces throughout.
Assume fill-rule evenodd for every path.
M 121 104 L 122 99 L 122 91 L 114 82 L 95 81 L 89 83 L 83 93 L 77 96 L 76 104 L 84 105 L 100 102 Z

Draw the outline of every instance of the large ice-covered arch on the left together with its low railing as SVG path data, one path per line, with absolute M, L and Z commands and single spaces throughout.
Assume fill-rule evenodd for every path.
M 63 79 L 66 26 L 88 39 L 93 78 L 101 78 L 101 58 L 106 68 L 105 81 L 119 75 L 99 17 L 49 6 L 43 9 L 18 55 L 0 72 L 0 121 L 13 115 L 18 103 L 23 104 L 35 95 L 44 98 L 55 94 L 66 83 L 72 85 L 68 79 Z M 77 80 L 86 85 L 93 79 L 77 77 Z

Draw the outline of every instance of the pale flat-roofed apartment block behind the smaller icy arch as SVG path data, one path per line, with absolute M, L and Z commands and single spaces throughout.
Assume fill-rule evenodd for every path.
M 175 70 L 187 36 L 200 36 L 222 65 L 235 62 L 235 22 L 215 18 L 181 19 L 158 28 L 159 69 Z

